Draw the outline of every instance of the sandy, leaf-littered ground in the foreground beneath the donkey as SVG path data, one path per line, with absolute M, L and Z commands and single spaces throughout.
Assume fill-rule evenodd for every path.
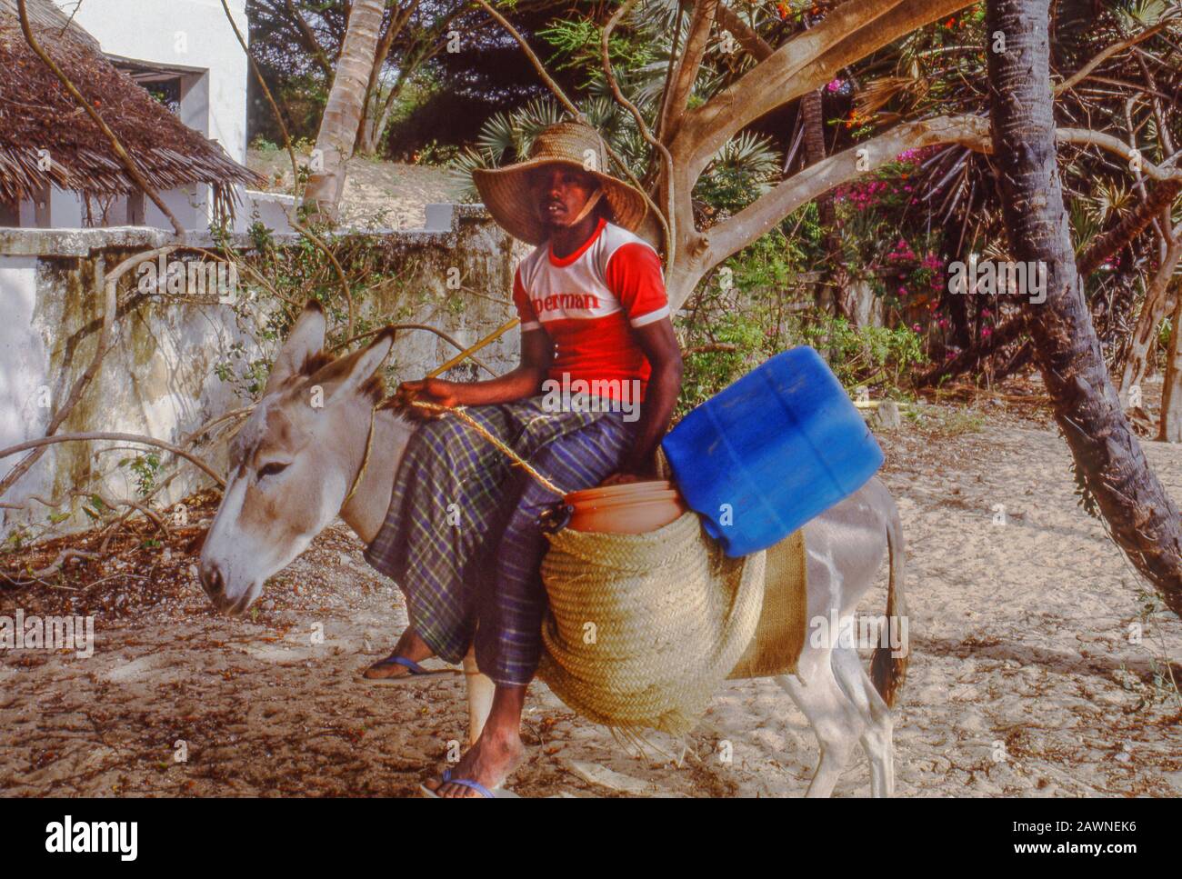
M 1144 587 L 1078 506 L 1054 430 L 985 412 L 982 424 L 931 409 L 882 435 L 909 542 L 898 793 L 1178 795 L 1182 708 L 1163 659 L 1182 653 L 1182 623 L 1144 616 Z M 1147 454 L 1182 497 L 1182 448 Z M 0 592 L 0 614 L 97 614 L 89 659 L 0 652 L 0 793 L 414 794 L 465 740 L 463 684 L 359 682 L 405 623 L 401 593 L 359 551 L 330 529 L 242 620 L 215 616 L 195 559 L 165 548 L 84 592 Z M 884 584 L 864 612 L 883 611 Z M 528 796 L 799 795 L 818 756 L 772 681 L 727 684 L 680 766 L 628 754 L 541 684 L 525 738 L 512 787 Z M 859 754 L 837 794 L 868 793 Z

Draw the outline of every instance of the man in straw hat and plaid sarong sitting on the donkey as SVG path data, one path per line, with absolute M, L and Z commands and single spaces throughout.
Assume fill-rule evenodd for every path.
M 405 404 L 469 406 L 469 416 L 566 491 L 654 478 L 681 390 L 661 259 L 634 233 L 647 203 L 606 167 L 599 135 L 567 122 L 539 134 L 528 159 L 473 172 L 493 219 L 537 246 L 513 281 L 521 364 L 487 382 L 428 378 L 398 389 Z M 595 389 L 600 399 L 560 411 L 550 403 L 554 395 L 543 395 L 551 382 Z M 639 414 L 630 417 L 636 391 Z M 426 788 L 492 796 L 521 762 L 521 710 L 546 607 L 538 517 L 559 495 L 460 418 L 414 405 L 405 412 L 424 423 L 365 555 L 401 586 L 410 625 L 365 677 L 401 684 L 430 675 L 421 662 L 457 663 L 474 642 L 480 671 L 496 685 L 492 710 L 459 764 Z

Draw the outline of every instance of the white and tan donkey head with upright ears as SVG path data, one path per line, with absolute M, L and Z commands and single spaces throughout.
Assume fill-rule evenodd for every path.
M 394 333 L 335 360 L 323 351 L 324 331 L 324 312 L 309 302 L 230 443 L 226 490 L 200 567 L 201 585 L 221 611 L 251 606 L 264 581 L 336 517 L 362 468 Z

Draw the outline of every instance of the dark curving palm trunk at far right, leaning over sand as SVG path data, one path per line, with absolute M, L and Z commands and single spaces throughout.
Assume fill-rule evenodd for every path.
M 1087 493 L 1134 566 L 1182 613 L 1178 513 L 1149 469 L 1109 379 L 1084 302 L 1056 167 L 1048 0 L 989 0 L 986 34 L 994 158 L 1017 260 L 1047 267 L 1046 301 L 1027 304 L 1035 362 Z

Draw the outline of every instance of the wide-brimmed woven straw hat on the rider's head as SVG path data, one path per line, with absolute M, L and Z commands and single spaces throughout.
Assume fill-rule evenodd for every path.
M 635 232 L 644 220 L 648 204 L 638 189 L 604 174 L 602 169 L 609 167 L 608 161 L 608 150 L 598 131 L 578 122 L 559 122 L 534 138 L 526 161 L 505 168 L 478 168 L 472 180 L 488 213 L 502 229 L 515 239 L 540 245 L 550 233 L 532 203 L 530 172 L 547 164 L 572 165 L 599 182 L 616 224 Z

